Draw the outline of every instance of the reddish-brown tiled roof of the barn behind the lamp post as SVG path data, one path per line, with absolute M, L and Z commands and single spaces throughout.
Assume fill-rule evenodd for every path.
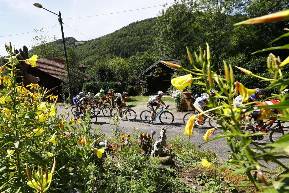
M 36 68 L 64 82 L 63 76 L 67 76 L 64 63 L 64 58 L 37 58 Z M 77 64 L 79 67 L 87 67 L 79 62 Z M 88 74 L 84 72 L 81 73 L 83 74 L 84 80 L 90 80 Z

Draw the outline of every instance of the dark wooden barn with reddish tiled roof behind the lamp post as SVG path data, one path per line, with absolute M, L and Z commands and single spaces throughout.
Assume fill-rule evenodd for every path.
M 60 85 L 67 80 L 67 71 L 64 68 L 64 64 L 64 58 L 37 58 L 36 67 L 30 67 L 28 73 L 40 78 L 40 81 L 38 82 L 40 86 L 45 85 L 45 88 L 47 89 L 57 87 L 52 91 L 52 94 L 58 95 L 60 100 L 63 100 L 61 98 L 62 91 Z M 85 73 L 87 66 L 81 63 L 77 64 L 81 68 L 84 81 L 90 80 L 88 74 Z

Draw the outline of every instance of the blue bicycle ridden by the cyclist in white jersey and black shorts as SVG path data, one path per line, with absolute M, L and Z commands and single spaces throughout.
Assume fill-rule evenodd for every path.
M 153 121 L 157 120 L 157 117 L 160 115 L 159 119 L 160 119 L 160 122 L 164 125 L 170 125 L 174 122 L 174 115 L 173 113 L 171 113 L 170 111 L 166 111 L 168 110 L 170 106 L 168 105 L 166 108 L 165 108 L 165 111 L 164 111 L 164 108 L 159 108 L 161 109 L 159 112 L 155 112 L 154 115 L 153 115 Z M 157 111 L 158 109 L 155 109 L 155 111 Z M 164 117 L 164 118 L 163 118 Z M 145 111 L 142 111 L 140 113 L 140 119 L 142 120 L 142 122 L 144 123 L 149 123 L 151 122 L 151 110 L 145 110 Z

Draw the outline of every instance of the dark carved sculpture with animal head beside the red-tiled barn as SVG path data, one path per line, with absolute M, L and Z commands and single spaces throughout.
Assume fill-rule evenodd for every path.
M 31 68 L 30 65 L 27 65 L 25 63 L 25 60 L 29 58 L 28 48 L 26 46 L 23 46 L 22 49 L 19 49 L 20 52 L 16 49 L 13 56 L 17 55 L 16 58 L 18 60 L 24 60 L 24 61 L 19 61 L 18 64 L 16 65 L 16 68 L 18 68 L 17 76 L 22 76 L 22 86 L 26 88 L 28 84 L 31 84 L 31 83 L 36 84 L 37 82 L 39 82 L 40 78 L 32 76 L 31 74 L 27 73 L 28 68 Z

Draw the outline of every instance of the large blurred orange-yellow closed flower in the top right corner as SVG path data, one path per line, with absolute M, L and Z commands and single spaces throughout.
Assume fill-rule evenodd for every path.
M 277 13 L 264 15 L 261 17 L 256 17 L 253 19 L 248 19 L 246 21 L 235 23 L 234 25 L 248 25 L 248 24 L 255 24 L 255 23 L 267 23 L 267 22 L 282 21 L 282 20 L 287 20 L 287 19 L 289 19 L 289 9 L 279 11 Z

